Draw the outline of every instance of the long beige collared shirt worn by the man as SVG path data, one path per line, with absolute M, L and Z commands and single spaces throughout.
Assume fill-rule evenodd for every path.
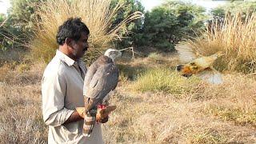
M 46 66 L 42 77 L 42 115 L 49 126 L 48 143 L 103 143 L 100 124 L 95 123 L 90 138 L 82 135 L 83 120 L 63 124 L 75 107 L 84 106 L 85 74 L 86 66 L 82 60 L 75 62 L 59 50 Z

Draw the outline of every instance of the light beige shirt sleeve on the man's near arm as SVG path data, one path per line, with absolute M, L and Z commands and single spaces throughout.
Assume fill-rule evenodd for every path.
M 46 74 L 42 78 L 42 115 L 46 125 L 60 126 L 74 110 L 64 107 L 66 79 L 63 74 Z

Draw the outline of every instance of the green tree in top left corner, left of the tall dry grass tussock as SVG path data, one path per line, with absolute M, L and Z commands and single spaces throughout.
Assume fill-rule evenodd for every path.
M 2 27 L 2 43 L 4 48 L 25 48 L 29 37 L 33 34 L 34 7 L 42 0 L 10 0 L 7 21 Z

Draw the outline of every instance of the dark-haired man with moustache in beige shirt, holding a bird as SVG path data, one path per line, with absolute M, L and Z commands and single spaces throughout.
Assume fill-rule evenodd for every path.
M 90 31 L 81 18 L 69 18 L 59 26 L 58 50 L 42 77 L 42 114 L 49 126 L 48 143 L 103 143 L 101 124 L 89 138 L 82 134 L 82 94 L 86 66 L 80 58 L 88 49 Z

